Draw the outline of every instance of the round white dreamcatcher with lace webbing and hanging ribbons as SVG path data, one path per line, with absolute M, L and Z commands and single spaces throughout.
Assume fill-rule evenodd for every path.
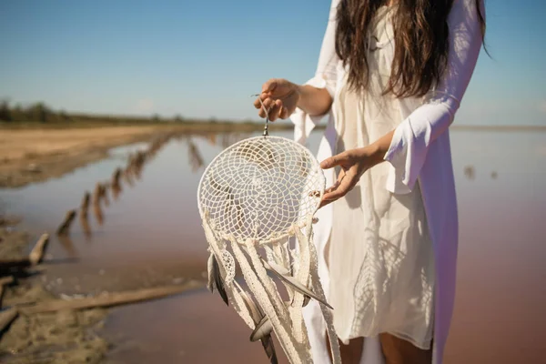
M 326 301 L 312 242 L 312 219 L 324 184 L 319 162 L 307 148 L 282 137 L 258 136 L 220 153 L 197 191 L 209 251 L 217 259 L 229 304 L 254 329 L 256 309 L 249 311 L 241 293 L 255 300 L 291 363 L 313 362 L 302 317 L 305 298 L 288 285 L 281 295 L 281 283 L 269 277 L 263 260 L 286 268 Z M 249 292 L 241 292 L 234 281 L 236 265 Z M 337 364 L 341 359 L 332 315 L 326 305 L 320 307 Z

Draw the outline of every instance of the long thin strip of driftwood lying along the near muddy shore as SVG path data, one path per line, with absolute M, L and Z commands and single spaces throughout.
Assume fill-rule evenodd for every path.
M 99 307 L 106 308 L 142 302 L 151 299 L 164 298 L 202 286 L 203 285 L 200 282 L 189 281 L 187 284 L 180 286 L 167 286 L 159 288 L 138 289 L 127 292 L 115 292 L 91 298 L 74 298 L 69 300 L 55 299 L 51 301 L 41 302 L 31 307 L 22 307 L 19 308 L 19 311 L 24 315 L 32 315 L 35 313 L 56 312 L 62 309 L 85 309 Z

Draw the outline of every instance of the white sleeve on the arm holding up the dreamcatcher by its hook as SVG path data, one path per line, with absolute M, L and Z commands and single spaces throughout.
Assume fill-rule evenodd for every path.
M 320 47 L 319 65 L 315 76 L 306 82 L 306 85 L 309 86 L 326 88 L 332 99 L 336 92 L 337 66 L 339 63 L 339 57 L 336 54 L 336 12 L 338 4 L 339 0 L 332 0 L 326 33 Z M 309 134 L 323 117 L 324 115 L 309 116 L 306 112 L 297 108 L 290 116 L 294 123 L 294 139 L 301 144 L 305 144 Z

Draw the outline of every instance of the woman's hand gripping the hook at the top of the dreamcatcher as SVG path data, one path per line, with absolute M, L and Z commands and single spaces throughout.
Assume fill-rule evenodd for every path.
M 254 106 L 259 110 L 260 117 L 266 117 L 268 113 L 270 121 L 286 119 L 296 110 L 299 97 L 298 85 L 283 78 L 271 78 L 262 86 L 262 92 L 254 101 Z

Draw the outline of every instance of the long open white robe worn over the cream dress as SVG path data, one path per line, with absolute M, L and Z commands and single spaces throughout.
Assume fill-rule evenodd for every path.
M 342 124 L 336 110 L 339 108 L 337 104 L 347 72 L 340 65 L 335 52 L 338 4 L 339 0 L 332 0 L 317 72 L 308 81 L 308 85 L 326 88 L 333 99 L 332 107 L 326 115 L 328 126 L 319 145 L 317 155 L 319 160 L 336 153 Z M 429 95 L 400 98 L 392 103 L 398 104 L 399 124 L 394 127 L 392 142 L 385 155 L 385 160 L 389 163 L 383 164 L 388 169 L 384 188 L 398 197 L 419 188 L 426 211 L 426 226 L 435 262 L 433 364 L 441 364 L 443 359 L 455 295 L 458 218 L 449 126 L 459 109 L 480 55 L 482 41 L 475 0 L 454 0 L 448 24 L 450 27 L 448 69 L 442 76 L 440 84 L 431 90 Z M 380 54 L 384 56 L 385 69 L 389 69 L 394 57 L 394 46 L 385 45 Z M 323 117 L 309 116 L 303 110 L 297 109 L 290 118 L 295 125 L 295 139 L 299 143 L 306 143 L 310 132 Z M 325 176 L 327 185 L 333 185 L 334 171 L 325 170 Z M 319 217 L 319 223 L 314 227 L 314 242 L 319 252 L 319 278 L 329 300 L 332 299 L 332 292 L 329 291 L 330 272 L 326 261 L 326 248 L 333 233 L 334 205 L 329 204 L 319 209 L 316 215 Z M 311 301 L 303 313 L 313 362 L 330 363 L 325 338 L 326 326 L 319 305 Z M 379 338 L 377 336 L 367 338 L 360 363 L 382 362 Z

